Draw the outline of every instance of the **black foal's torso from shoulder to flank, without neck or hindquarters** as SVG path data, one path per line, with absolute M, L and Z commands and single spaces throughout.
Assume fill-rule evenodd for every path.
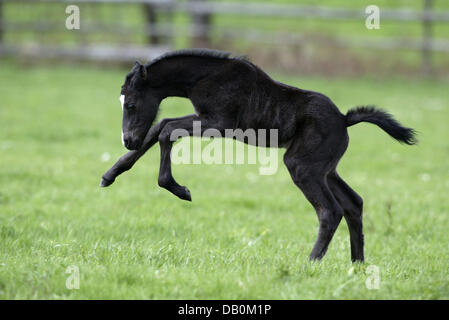
M 200 80 L 189 98 L 198 114 L 220 117 L 228 128 L 277 129 L 282 143 L 294 135 L 298 114 L 313 95 L 273 80 L 249 61 L 230 59 Z

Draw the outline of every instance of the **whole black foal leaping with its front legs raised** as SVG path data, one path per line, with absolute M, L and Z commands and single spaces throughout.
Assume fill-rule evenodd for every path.
M 163 119 L 151 126 L 160 102 L 169 96 L 192 101 L 195 114 Z M 352 261 L 363 261 L 362 198 L 337 174 L 348 146 L 347 127 L 358 122 L 378 125 L 393 138 L 414 144 L 413 129 L 374 107 L 358 107 L 347 115 L 321 93 L 298 89 L 271 79 L 260 68 L 229 53 L 193 49 L 170 52 L 146 65 L 137 63 L 122 86 L 123 143 L 133 150 L 107 171 L 101 186 L 134 163 L 155 143 L 161 147 L 159 185 L 181 199 L 191 200 L 186 187 L 171 173 L 173 130 L 193 135 L 193 121 L 202 131 L 217 129 L 276 129 L 285 146 L 284 163 L 293 182 L 316 210 L 318 239 L 310 259 L 321 259 L 342 217 L 349 227 Z M 269 141 L 258 141 L 269 146 Z

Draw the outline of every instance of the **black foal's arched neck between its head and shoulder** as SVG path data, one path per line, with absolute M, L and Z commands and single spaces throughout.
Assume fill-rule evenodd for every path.
M 188 98 L 198 81 L 212 74 L 226 59 L 209 57 L 171 57 L 148 67 L 150 86 L 159 88 L 163 98 Z

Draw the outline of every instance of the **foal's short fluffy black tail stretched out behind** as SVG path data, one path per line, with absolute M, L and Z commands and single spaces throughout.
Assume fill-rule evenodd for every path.
M 350 127 L 359 122 L 370 122 L 378 125 L 382 130 L 401 143 L 416 144 L 416 131 L 403 127 L 386 111 L 373 106 L 356 107 L 346 114 L 346 126 Z

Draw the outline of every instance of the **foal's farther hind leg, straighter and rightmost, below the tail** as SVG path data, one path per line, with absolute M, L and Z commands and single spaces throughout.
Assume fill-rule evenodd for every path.
M 338 176 L 337 172 L 329 173 L 327 181 L 334 196 L 344 210 L 344 217 L 348 224 L 351 240 L 351 260 L 353 262 L 363 262 L 363 200 Z

